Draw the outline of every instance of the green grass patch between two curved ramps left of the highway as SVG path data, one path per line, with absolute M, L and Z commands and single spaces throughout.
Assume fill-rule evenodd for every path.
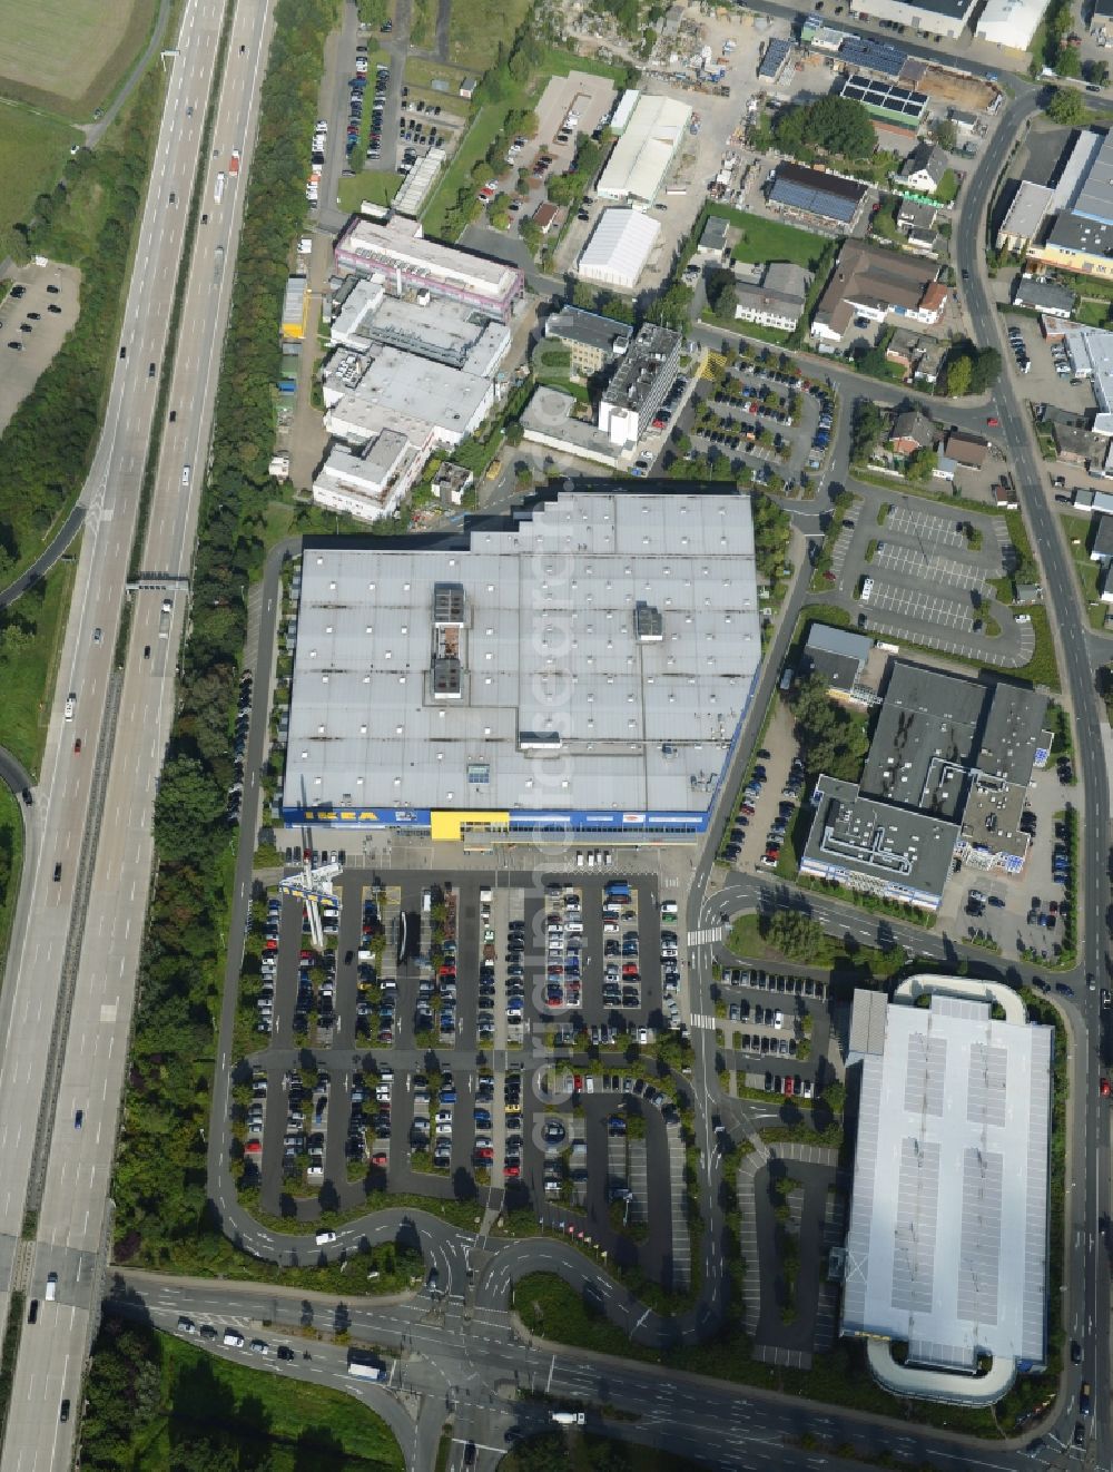
M 38 590 L 25 593 L 0 620 L 0 680 L 4 686 L 0 746 L 35 777 L 50 720 L 44 698 L 54 689 L 80 548 L 80 540 L 72 545 L 66 559 L 49 574 L 41 595 Z

